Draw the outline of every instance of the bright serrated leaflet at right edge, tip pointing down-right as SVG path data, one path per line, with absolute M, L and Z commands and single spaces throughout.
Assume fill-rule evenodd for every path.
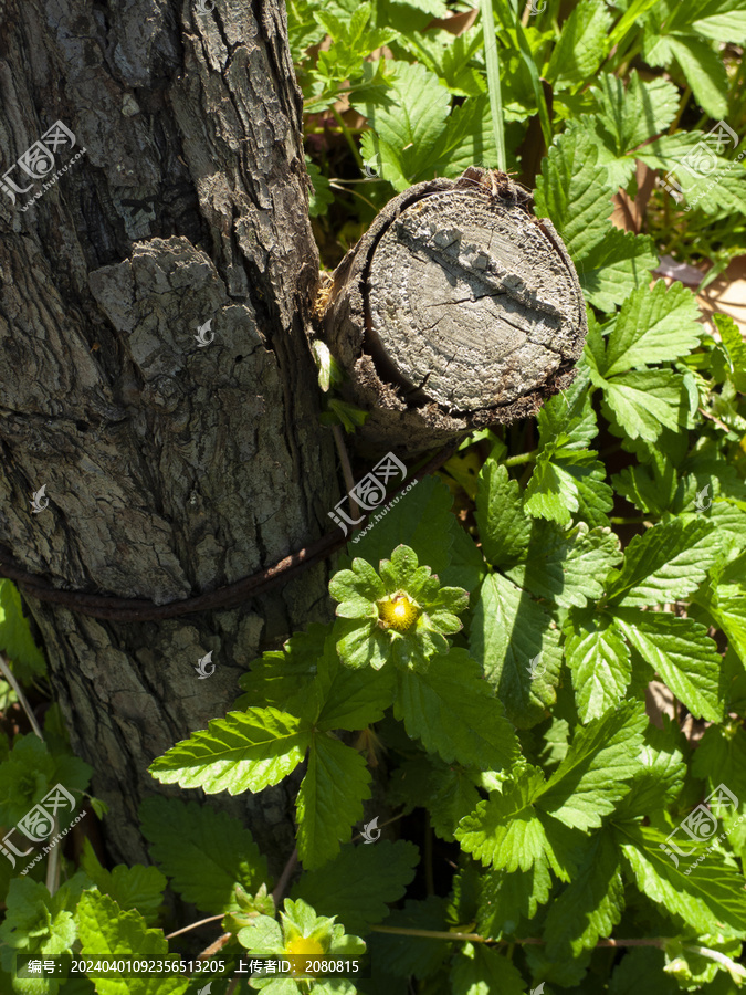
M 695 716 L 723 719 L 722 658 L 704 626 L 665 611 L 619 608 L 614 625 Z

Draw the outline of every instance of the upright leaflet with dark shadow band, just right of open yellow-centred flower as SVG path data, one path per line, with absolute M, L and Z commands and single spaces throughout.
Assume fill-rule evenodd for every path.
M 470 647 L 511 722 L 519 729 L 540 722 L 556 700 L 561 666 L 559 633 L 544 607 L 512 580 L 490 574 L 474 609 Z

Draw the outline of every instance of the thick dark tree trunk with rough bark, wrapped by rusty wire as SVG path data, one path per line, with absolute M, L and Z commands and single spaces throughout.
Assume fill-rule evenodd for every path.
M 59 588 L 159 605 L 214 590 L 327 531 L 338 490 L 306 339 L 318 265 L 284 8 L 3 14 L 0 542 Z M 230 708 L 260 647 L 325 610 L 325 582 L 316 566 L 161 622 L 28 599 L 117 860 L 145 858 L 137 805 L 162 789 L 148 764 Z M 287 857 L 285 790 L 216 800 Z

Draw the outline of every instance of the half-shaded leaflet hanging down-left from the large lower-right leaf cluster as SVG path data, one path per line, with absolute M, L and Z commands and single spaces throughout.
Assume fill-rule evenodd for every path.
M 593 834 L 584 847 L 577 873 L 551 902 L 544 926 L 549 957 L 570 960 L 610 936 L 624 908 L 624 886 L 613 836 Z

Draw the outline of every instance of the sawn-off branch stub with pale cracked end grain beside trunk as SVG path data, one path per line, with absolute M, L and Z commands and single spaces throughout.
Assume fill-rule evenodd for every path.
M 323 337 L 370 448 L 414 453 L 535 413 L 571 383 L 578 277 L 530 193 L 471 167 L 390 201 L 325 292 Z

